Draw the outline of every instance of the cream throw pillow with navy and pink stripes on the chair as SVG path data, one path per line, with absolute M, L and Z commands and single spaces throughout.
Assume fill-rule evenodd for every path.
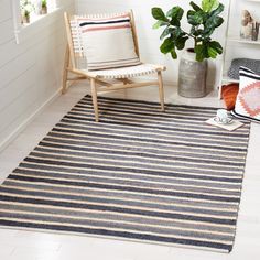
M 128 13 L 78 19 L 88 71 L 140 65 Z

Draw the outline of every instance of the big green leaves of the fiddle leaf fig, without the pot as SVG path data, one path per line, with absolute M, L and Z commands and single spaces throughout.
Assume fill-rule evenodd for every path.
M 188 39 L 194 41 L 196 61 L 216 58 L 223 53 L 219 42 L 212 39 L 213 33 L 219 28 L 224 19 L 219 15 L 224 11 L 224 4 L 218 0 L 203 0 L 201 7 L 189 2 L 192 10 L 187 11 L 186 18 L 191 30 L 186 32 L 182 28 L 184 10 L 181 7 L 173 7 L 166 13 L 161 8 L 153 8 L 152 15 L 156 21 L 153 29 L 164 28 L 160 50 L 162 53 L 171 53 L 174 59 L 177 58 L 177 50 L 183 50 Z

